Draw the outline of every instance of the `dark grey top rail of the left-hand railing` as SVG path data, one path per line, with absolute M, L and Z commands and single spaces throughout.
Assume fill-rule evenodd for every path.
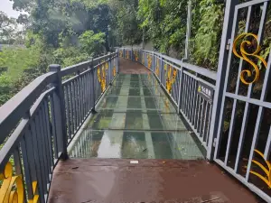
M 100 60 L 105 60 L 108 57 L 116 56 L 116 52 L 107 54 L 102 57 L 98 57 L 93 60 L 93 66 L 98 64 Z M 61 69 L 61 77 L 68 76 L 73 73 L 78 73 L 83 69 L 88 68 L 91 64 L 91 60 Z M 57 78 L 57 72 L 45 73 L 42 76 L 35 78 L 33 82 L 23 88 L 14 97 L 8 100 L 3 106 L 0 106 L 0 143 L 5 141 L 6 135 L 9 134 L 22 119 L 22 117 L 27 114 L 30 107 L 41 95 L 41 92 L 51 83 L 53 83 Z

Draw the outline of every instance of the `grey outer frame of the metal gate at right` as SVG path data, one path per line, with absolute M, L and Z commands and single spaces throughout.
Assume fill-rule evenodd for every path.
M 238 9 L 240 7 L 248 7 L 248 6 L 253 6 L 253 5 L 258 5 L 258 4 L 267 4 L 266 7 L 268 8 L 268 4 L 271 4 L 270 0 L 251 0 L 246 3 L 239 4 L 238 0 L 229 0 L 226 1 L 226 7 L 225 7 L 225 14 L 224 14 L 224 22 L 223 22 L 223 30 L 222 30 L 222 36 L 221 36 L 221 42 L 220 42 L 220 57 L 219 57 L 219 65 L 218 65 L 218 71 L 217 71 L 217 83 L 215 87 L 215 95 L 214 95 L 214 102 L 213 102 L 213 111 L 211 115 L 211 124 L 210 124 L 210 140 L 209 140 L 209 146 L 210 148 L 208 149 L 207 152 L 207 158 L 210 161 L 215 161 L 217 164 L 219 164 L 225 171 L 228 171 L 229 174 L 231 174 L 234 178 L 239 180 L 241 183 L 243 183 L 245 186 L 248 187 L 251 191 L 257 194 L 260 198 L 263 198 L 267 202 L 271 201 L 271 197 L 269 197 L 263 190 L 257 188 L 254 184 L 250 183 L 248 181 L 248 173 L 247 171 L 246 177 L 241 176 L 238 174 L 234 169 L 231 169 L 228 167 L 224 161 L 221 161 L 216 157 L 216 152 L 220 148 L 220 140 L 222 139 L 222 136 L 220 136 L 220 126 L 222 125 L 221 123 L 223 122 L 221 119 L 221 115 L 223 115 L 224 112 L 224 102 L 222 103 L 223 99 L 226 97 L 227 90 L 225 91 L 228 80 L 226 81 L 227 74 L 229 69 L 227 69 L 230 61 L 232 58 L 229 59 L 229 54 L 232 55 L 230 52 L 232 49 L 231 47 L 227 49 L 227 46 L 233 46 L 233 41 L 234 39 L 231 39 L 234 36 L 234 33 L 236 32 L 236 28 L 234 26 L 238 26 L 237 24 L 237 18 L 234 18 L 235 12 L 238 13 Z M 240 6 L 239 6 L 240 5 Z M 237 14 L 238 15 L 238 14 Z M 266 15 L 264 16 L 266 17 Z M 264 21 L 265 23 L 265 21 Z M 259 29 L 263 29 L 264 27 L 259 27 Z M 232 55 L 233 56 L 233 55 Z M 267 75 L 270 75 L 271 71 L 269 70 L 270 64 L 271 64 L 271 52 L 269 53 L 268 56 L 268 61 L 267 61 L 267 67 L 268 69 L 266 71 Z M 240 60 L 241 61 L 241 60 Z M 269 77 L 270 78 L 270 77 Z M 268 78 L 267 78 L 268 80 Z M 269 79 L 271 80 L 271 79 Z M 269 81 L 268 81 L 269 82 Z M 266 85 L 267 82 L 265 82 Z M 234 93 L 236 95 L 236 93 Z M 237 95 L 238 97 L 238 95 Z M 250 99 L 251 97 L 248 97 Z M 237 98 L 237 100 L 239 100 Z M 261 99 L 259 99 L 260 101 Z M 248 102 L 248 101 L 247 101 Z M 257 106 L 260 106 L 257 104 Z M 261 113 L 262 114 L 262 113 Z M 244 115 L 246 115 L 244 113 Z M 233 118 L 231 118 L 233 119 Z M 257 122 L 259 119 L 257 118 Z M 255 135 L 254 135 L 255 136 Z M 254 149 L 254 141 L 255 137 L 253 137 L 253 143 L 251 144 L 251 148 Z M 248 160 L 248 170 L 250 169 L 250 165 L 252 162 L 252 155 L 251 149 L 250 149 L 250 154 L 249 154 L 249 160 Z M 227 154 L 226 154 L 227 156 Z

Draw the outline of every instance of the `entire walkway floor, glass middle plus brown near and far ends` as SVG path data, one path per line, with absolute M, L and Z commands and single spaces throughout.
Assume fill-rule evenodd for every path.
M 120 72 L 54 171 L 49 202 L 258 202 L 196 160 L 204 151 L 147 69 L 121 60 Z

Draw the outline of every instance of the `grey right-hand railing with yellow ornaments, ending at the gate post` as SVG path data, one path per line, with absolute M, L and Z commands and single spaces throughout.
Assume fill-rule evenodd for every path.
M 210 146 L 211 99 L 198 94 L 200 84 L 208 87 L 213 95 L 217 79 L 216 72 L 209 69 L 176 60 L 154 51 L 120 49 L 119 56 L 134 60 L 150 69 L 158 79 L 178 113 L 182 113 L 186 122 L 197 135 L 207 151 Z

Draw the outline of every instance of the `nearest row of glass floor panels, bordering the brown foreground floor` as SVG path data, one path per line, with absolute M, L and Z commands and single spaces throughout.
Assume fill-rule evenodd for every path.
M 204 152 L 187 132 L 95 131 L 85 129 L 70 158 L 203 159 Z

